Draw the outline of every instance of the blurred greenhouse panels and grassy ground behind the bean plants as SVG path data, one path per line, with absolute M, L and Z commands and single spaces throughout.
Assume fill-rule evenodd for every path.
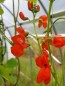
M 15 4 L 15 15 L 17 14 L 18 9 L 18 0 L 14 0 Z M 48 7 L 49 7 L 49 0 L 38 0 L 37 4 L 40 5 L 40 12 L 37 13 L 36 19 L 43 15 L 48 13 Z M 3 14 L 3 22 L 5 27 L 5 34 L 7 37 L 11 37 L 14 35 L 14 19 L 13 19 L 13 8 L 12 8 L 12 0 L 5 0 L 4 3 L 0 4 L 2 8 L 4 9 Z M 31 20 L 33 20 L 32 13 L 28 10 L 27 7 L 27 1 L 26 0 L 20 0 L 19 5 L 19 12 L 22 11 L 27 17 L 29 17 Z M 65 1 L 64 0 L 54 0 L 52 11 L 51 11 L 51 24 L 53 21 L 57 18 L 63 18 L 65 17 Z M 34 34 L 33 25 L 29 21 L 22 21 L 20 17 L 18 16 L 17 19 L 17 26 L 21 26 L 25 29 L 25 31 Z M 42 32 L 45 30 L 42 27 L 38 29 L 38 22 L 36 22 L 37 32 L 38 35 L 41 35 Z M 57 21 L 52 28 L 53 34 L 62 34 L 65 36 L 65 20 L 59 20 Z M 39 37 L 41 40 L 43 36 Z M 32 39 L 31 37 L 28 38 L 28 41 L 31 45 L 31 47 L 27 48 L 25 50 L 25 54 L 23 57 L 20 58 L 20 65 L 21 65 L 21 76 L 18 86 L 45 86 L 42 84 L 38 85 L 36 83 L 36 76 L 38 73 L 39 68 L 35 64 L 35 57 L 39 54 L 37 43 Z M 15 58 L 11 52 L 10 47 L 11 45 L 6 41 L 6 47 L 7 47 L 7 55 L 6 59 Z M 51 47 L 52 54 L 62 63 L 63 60 L 63 53 L 65 52 L 65 47 L 62 47 L 61 49 L 57 49 L 55 47 Z M 62 65 L 60 65 L 57 61 L 53 60 L 55 67 L 58 71 L 58 73 L 61 73 Z M 58 77 L 60 78 L 60 74 L 58 74 Z M 48 86 L 55 86 L 52 82 Z

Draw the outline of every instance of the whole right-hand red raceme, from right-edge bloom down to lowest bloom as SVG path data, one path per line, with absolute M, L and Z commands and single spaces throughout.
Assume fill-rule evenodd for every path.
M 54 37 L 47 38 L 47 36 L 44 37 L 44 42 L 42 43 L 42 51 L 43 55 L 40 55 L 36 58 L 36 65 L 40 67 L 40 70 L 37 75 L 37 83 L 40 84 L 41 82 L 44 82 L 45 84 L 48 84 L 51 80 L 51 71 L 50 71 L 50 65 L 48 62 L 48 53 L 46 50 L 48 50 L 48 40 L 50 42 L 50 45 L 55 46 L 57 48 L 63 47 L 65 45 L 65 38 L 62 37 L 62 35 L 55 35 Z

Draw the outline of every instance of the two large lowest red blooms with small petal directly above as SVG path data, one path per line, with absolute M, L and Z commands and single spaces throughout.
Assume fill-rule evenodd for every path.
M 37 75 L 37 83 L 44 82 L 45 84 L 48 84 L 51 80 L 51 70 L 50 65 L 48 61 L 48 53 L 45 49 L 43 49 L 43 55 L 40 55 L 36 58 L 36 65 L 40 67 L 40 71 Z

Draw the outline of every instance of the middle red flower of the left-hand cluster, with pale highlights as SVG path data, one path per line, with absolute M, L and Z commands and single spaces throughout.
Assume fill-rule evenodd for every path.
M 12 41 L 14 42 L 14 44 L 20 45 L 23 48 L 27 48 L 28 44 L 26 43 L 25 39 L 23 37 L 21 37 L 21 35 L 16 35 L 11 37 Z

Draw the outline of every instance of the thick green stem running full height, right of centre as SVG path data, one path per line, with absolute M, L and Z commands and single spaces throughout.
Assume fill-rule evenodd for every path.
M 49 38 L 49 31 L 50 31 L 50 14 L 51 14 L 51 9 L 52 9 L 52 5 L 53 5 L 53 0 L 50 0 L 50 5 L 49 5 L 49 12 L 48 12 L 48 28 L 47 28 L 47 38 Z M 51 58 L 51 49 L 50 49 L 50 40 L 48 40 L 48 50 L 49 50 L 49 57 L 50 57 L 50 62 L 51 62 L 51 65 L 53 67 L 53 70 L 54 70 L 54 78 L 55 78 L 55 84 L 56 86 L 60 86 L 58 81 L 57 81 L 57 75 L 56 75 L 56 70 L 54 68 L 54 64 L 52 62 L 52 58 Z M 52 71 L 52 69 L 51 69 Z

